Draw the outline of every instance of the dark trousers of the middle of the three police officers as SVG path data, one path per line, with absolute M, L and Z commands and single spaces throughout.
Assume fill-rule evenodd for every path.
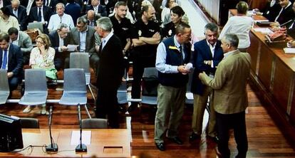
M 155 59 L 153 58 L 133 58 L 133 82 L 131 89 L 132 98 L 140 98 L 141 78 L 143 78 L 143 70 L 148 67 L 155 67 Z

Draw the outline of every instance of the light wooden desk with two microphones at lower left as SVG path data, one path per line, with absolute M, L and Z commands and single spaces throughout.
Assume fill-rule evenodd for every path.
M 78 130 L 78 129 L 77 129 Z M 76 131 L 77 131 L 76 130 Z M 77 145 L 71 145 L 73 129 L 53 129 L 53 139 L 58 144 L 58 153 L 47 154 L 43 147 L 33 147 L 22 152 L 2 152 L 0 157 L 130 157 L 130 130 L 103 129 L 91 130 L 91 144 L 87 145 L 86 154 L 76 154 Z M 86 130 L 85 130 L 86 131 Z M 50 144 L 48 129 L 23 130 L 24 147 L 29 145 L 42 146 Z

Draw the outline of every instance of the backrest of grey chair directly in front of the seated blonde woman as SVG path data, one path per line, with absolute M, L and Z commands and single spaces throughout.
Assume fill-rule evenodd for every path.
M 30 68 L 25 70 L 25 93 L 46 92 L 46 73 L 45 69 Z

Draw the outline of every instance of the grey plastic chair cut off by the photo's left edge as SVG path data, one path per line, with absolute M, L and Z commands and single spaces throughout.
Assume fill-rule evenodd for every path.
M 5 104 L 9 97 L 9 82 L 7 78 L 7 71 L 0 69 L 0 105 Z

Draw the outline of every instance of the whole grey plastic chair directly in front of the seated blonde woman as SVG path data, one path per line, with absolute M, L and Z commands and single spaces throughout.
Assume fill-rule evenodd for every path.
M 21 105 L 41 105 L 47 99 L 46 73 L 44 69 L 25 70 L 25 92 L 19 100 Z

